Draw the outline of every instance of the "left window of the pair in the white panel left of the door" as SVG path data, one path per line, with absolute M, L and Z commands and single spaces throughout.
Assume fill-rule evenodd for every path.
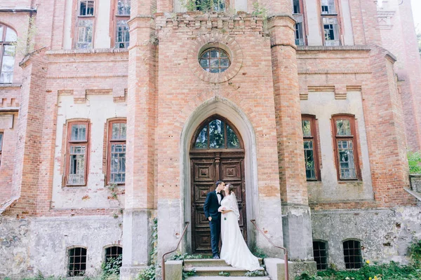
M 67 186 L 86 186 L 88 169 L 88 122 L 72 122 L 67 127 Z

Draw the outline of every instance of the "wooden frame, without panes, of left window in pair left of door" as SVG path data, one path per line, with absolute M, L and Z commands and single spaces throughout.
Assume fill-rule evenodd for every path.
M 72 141 L 72 125 L 86 125 L 86 141 Z M 83 187 L 88 186 L 88 170 L 89 170 L 89 155 L 91 144 L 91 122 L 89 120 L 69 120 L 67 121 L 67 137 L 66 137 L 66 161 L 65 161 L 65 176 L 63 176 L 63 186 L 66 187 Z M 85 144 L 85 182 L 83 184 L 69 184 L 70 174 L 70 147 Z

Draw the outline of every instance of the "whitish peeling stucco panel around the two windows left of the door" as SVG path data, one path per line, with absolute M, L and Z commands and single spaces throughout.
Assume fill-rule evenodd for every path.
M 103 152 L 107 120 L 126 117 L 126 104 L 113 102 L 111 94 L 88 95 L 86 103 L 75 104 L 73 95 L 60 95 L 58 98 L 57 134 L 55 139 L 55 164 L 53 176 L 53 202 L 55 209 L 69 208 L 108 208 L 119 207 L 115 200 L 109 200 L 111 193 L 106 188 L 105 170 L 103 170 Z M 88 185 L 86 187 L 63 187 L 64 168 L 63 149 L 66 142 L 66 121 L 85 118 L 91 121 L 90 157 L 88 166 Z M 123 195 L 119 196 L 123 205 Z M 122 207 L 122 206 L 121 206 Z

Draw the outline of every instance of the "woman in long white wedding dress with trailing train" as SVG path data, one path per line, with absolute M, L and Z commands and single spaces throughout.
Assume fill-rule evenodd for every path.
M 239 227 L 239 207 L 234 194 L 234 187 L 227 184 L 224 188 L 225 197 L 218 209 L 221 217 L 221 259 L 236 268 L 254 271 L 260 268 L 259 260 L 250 250 L 241 235 Z

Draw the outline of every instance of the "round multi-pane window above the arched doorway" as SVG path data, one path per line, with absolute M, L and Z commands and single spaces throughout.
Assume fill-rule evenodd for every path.
M 202 52 L 199 63 L 203 70 L 210 73 L 222 73 L 231 65 L 227 52 L 220 48 L 210 48 Z

